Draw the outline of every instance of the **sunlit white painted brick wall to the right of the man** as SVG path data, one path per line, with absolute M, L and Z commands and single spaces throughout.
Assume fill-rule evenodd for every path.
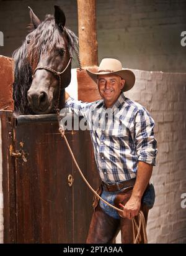
M 186 192 L 186 73 L 134 72 L 135 87 L 125 95 L 131 100 L 137 93 L 140 95 L 136 101 L 156 121 L 158 143 L 157 164 L 151 178 L 156 202 L 149 211 L 148 240 L 186 242 L 186 209 L 180 207 L 180 196 Z

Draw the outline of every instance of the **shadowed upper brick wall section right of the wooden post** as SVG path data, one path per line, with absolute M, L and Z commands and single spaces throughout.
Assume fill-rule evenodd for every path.
M 97 1 L 99 60 L 110 55 L 130 69 L 186 72 L 186 1 Z

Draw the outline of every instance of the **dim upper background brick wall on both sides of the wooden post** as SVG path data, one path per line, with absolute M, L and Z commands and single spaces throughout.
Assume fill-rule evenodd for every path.
M 0 0 L 0 54 L 11 56 L 24 40 L 30 22 L 27 6 L 43 19 L 53 13 L 54 4 L 64 9 L 66 25 L 78 34 L 76 0 Z M 185 9 L 186 1 L 179 0 L 97 0 L 99 60 L 116 57 L 131 69 L 186 72 L 186 46 L 180 44 L 180 34 L 186 31 Z

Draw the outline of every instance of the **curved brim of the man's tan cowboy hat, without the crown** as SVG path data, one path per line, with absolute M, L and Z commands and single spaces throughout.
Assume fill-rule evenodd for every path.
M 86 69 L 88 75 L 97 83 L 98 75 L 119 75 L 125 80 L 125 85 L 123 87 L 123 92 L 130 90 L 135 85 L 135 74 L 129 69 L 122 69 L 115 72 L 91 72 Z

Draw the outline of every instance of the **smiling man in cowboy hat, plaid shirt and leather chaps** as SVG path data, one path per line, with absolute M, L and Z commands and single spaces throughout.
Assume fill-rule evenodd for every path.
M 122 69 L 119 60 L 103 59 L 98 72 L 87 73 L 97 82 L 102 100 L 83 103 L 67 94 L 66 107 L 89 124 L 102 179 L 99 194 L 123 209 L 119 215 L 95 197 L 87 243 L 112 243 L 119 230 L 122 243 L 132 243 L 131 217 L 141 209 L 147 220 L 154 203 L 149 186 L 157 153 L 154 120 L 143 106 L 124 96 L 135 84 L 135 75 Z

